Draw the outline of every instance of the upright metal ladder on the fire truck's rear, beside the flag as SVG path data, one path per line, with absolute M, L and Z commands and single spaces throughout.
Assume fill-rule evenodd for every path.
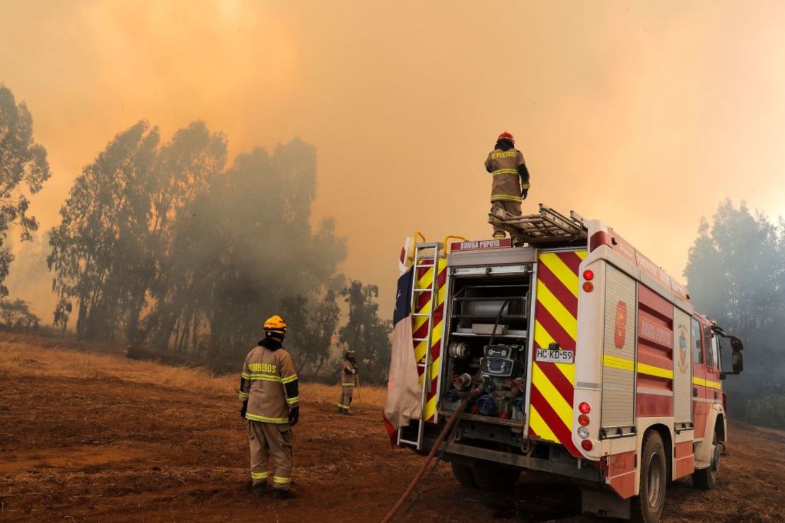
M 431 347 L 433 346 L 433 313 L 436 311 L 436 302 L 439 300 L 438 266 L 440 259 L 439 252 L 441 249 L 444 249 L 444 244 L 440 242 L 426 242 L 414 245 L 414 265 L 412 266 L 412 271 L 414 271 L 414 273 L 411 285 L 411 321 L 414 324 L 414 321 L 416 321 L 417 318 L 427 318 L 422 325 L 428 325 L 428 330 L 425 337 L 419 336 L 412 338 L 414 345 L 411 347 L 411 350 L 414 350 L 414 347 L 416 347 L 419 343 L 426 342 L 425 356 L 423 356 L 420 361 L 417 361 L 417 372 L 421 378 L 420 384 L 422 385 L 420 397 L 420 405 L 422 408 L 425 407 L 425 400 L 427 398 L 428 391 L 431 390 L 432 385 L 431 376 L 433 376 L 433 372 L 431 365 L 433 365 L 433 359 L 431 356 Z M 425 256 L 423 256 L 424 254 Z M 430 268 L 433 268 L 433 278 L 431 278 L 431 285 L 419 289 L 417 287 L 419 269 Z M 428 307 L 428 311 L 418 311 L 418 301 L 420 297 L 426 293 L 429 293 L 430 295 L 430 307 Z M 412 329 L 414 329 L 414 325 L 412 325 Z M 406 443 L 408 445 L 415 445 L 417 450 L 422 449 L 422 435 L 425 430 L 424 413 L 421 412 L 420 419 L 417 420 L 417 438 L 405 438 L 403 430 L 404 427 L 398 429 L 398 444 L 400 445 L 401 443 Z M 411 434 L 409 437 L 411 437 Z

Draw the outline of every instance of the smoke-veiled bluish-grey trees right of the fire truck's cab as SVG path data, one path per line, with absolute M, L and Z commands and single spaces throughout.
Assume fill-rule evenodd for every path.
M 785 428 L 785 222 L 722 202 L 701 221 L 685 277 L 696 309 L 743 340 L 745 369 L 723 383 L 731 413 Z

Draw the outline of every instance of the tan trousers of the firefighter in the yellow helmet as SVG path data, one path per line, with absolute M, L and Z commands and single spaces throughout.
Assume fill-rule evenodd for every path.
M 262 423 L 248 420 L 250 478 L 286 490 L 292 481 L 292 430 L 288 423 Z

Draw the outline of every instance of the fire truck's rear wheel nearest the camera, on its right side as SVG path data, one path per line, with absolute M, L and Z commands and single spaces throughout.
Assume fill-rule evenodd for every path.
M 663 438 L 656 430 L 649 430 L 641 451 L 641 489 L 632 499 L 632 521 L 655 523 L 663 514 L 667 481 L 667 463 Z

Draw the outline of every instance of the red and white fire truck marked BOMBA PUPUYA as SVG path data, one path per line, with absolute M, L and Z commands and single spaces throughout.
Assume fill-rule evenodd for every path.
M 399 445 L 429 452 L 466 401 L 438 449 L 462 485 L 560 474 L 584 512 L 641 521 L 659 520 L 670 481 L 713 488 L 741 340 L 599 220 L 540 205 L 489 222 L 510 238 L 414 245 L 422 419 Z

